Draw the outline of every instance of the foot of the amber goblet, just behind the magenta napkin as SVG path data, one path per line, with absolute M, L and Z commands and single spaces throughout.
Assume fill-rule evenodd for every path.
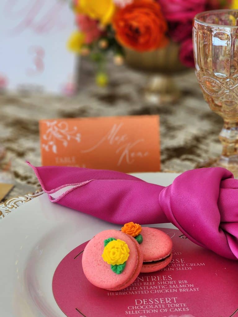
M 238 179 L 238 158 L 226 158 L 224 156 L 219 156 L 217 158 L 210 158 L 206 161 L 198 163 L 195 168 L 202 167 L 224 167 L 231 171 L 235 178 Z

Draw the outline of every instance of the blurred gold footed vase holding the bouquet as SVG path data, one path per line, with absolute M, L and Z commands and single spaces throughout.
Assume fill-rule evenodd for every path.
M 146 104 L 160 106 L 177 101 L 181 92 L 176 86 L 173 75 L 187 68 L 179 61 L 179 45 L 170 42 L 163 49 L 139 53 L 125 49 L 126 64 L 147 74 L 143 93 Z

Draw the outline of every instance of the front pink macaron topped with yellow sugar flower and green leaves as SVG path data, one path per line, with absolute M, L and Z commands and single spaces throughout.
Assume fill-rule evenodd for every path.
M 118 230 L 94 236 L 83 251 L 82 266 L 93 285 L 111 291 L 133 283 L 142 269 L 143 255 L 137 241 Z

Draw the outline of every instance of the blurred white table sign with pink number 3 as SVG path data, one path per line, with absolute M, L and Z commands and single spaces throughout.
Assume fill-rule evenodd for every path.
M 67 90 L 74 57 L 66 43 L 73 24 L 68 1 L 2 0 L 0 88 L 53 93 Z

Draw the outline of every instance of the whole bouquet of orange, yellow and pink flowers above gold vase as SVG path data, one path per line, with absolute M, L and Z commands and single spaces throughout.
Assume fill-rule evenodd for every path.
M 146 52 L 177 42 L 181 63 L 193 67 L 193 17 L 228 4 L 229 0 L 73 0 L 77 31 L 68 48 L 95 61 L 101 86 L 107 83 L 107 53 L 121 65 L 124 48 Z

